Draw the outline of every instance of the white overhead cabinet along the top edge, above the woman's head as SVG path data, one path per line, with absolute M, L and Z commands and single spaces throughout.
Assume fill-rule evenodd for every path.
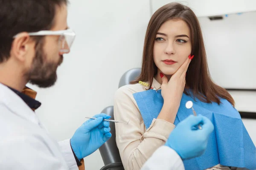
M 170 2 L 189 6 L 197 17 L 256 11 L 256 0 L 151 0 L 152 14 Z

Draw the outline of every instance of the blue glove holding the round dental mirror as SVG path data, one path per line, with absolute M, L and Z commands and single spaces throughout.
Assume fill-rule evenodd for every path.
M 199 123 L 201 130 L 195 128 Z M 175 150 L 183 160 L 198 157 L 204 153 L 213 130 L 214 126 L 207 117 L 191 115 L 175 127 L 165 145 Z

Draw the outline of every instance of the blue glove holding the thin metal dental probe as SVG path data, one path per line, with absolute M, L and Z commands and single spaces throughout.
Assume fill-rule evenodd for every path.
M 101 113 L 93 117 L 97 119 L 84 122 L 70 139 L 71 147 L 79 160 L 95 152 L 111 138 L 109 122 L 103 121 L 111 116 Z

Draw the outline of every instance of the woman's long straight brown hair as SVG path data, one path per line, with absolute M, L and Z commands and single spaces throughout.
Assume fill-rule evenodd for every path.
M 131 83 L 148 81 L 149 87 L 152 86 L 153 78 L 157 74 L 157 66 L 153 59 L 155 37 L 160 26 L 167 20 L 172 19 L 185 21 L 191 32 L 191 54 L 195 55 L 195 57 L 190 62 L 186 74 L 186 86 L 202 102 L 217 102 L 220 104 L 219 97 L 221 97 L 227 99 L 234 106 L 235 101 L 232 96 L 224 88 L 216 85 L 210 77 L 201 27 L 195 13 L 189 7 L 180 3 L 166 4 L 159 8 L 151 17 L 145 35 L 141 74 L 137 80 Z M 188 94 L 186 91 L 184 93 Z

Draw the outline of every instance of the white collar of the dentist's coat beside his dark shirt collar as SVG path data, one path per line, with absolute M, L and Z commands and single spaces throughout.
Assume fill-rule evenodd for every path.
M 0 105 L 5 105 L 12 113 L 30 122 L 40 125 L 38 116 L 11 89 L 0 83 Z

